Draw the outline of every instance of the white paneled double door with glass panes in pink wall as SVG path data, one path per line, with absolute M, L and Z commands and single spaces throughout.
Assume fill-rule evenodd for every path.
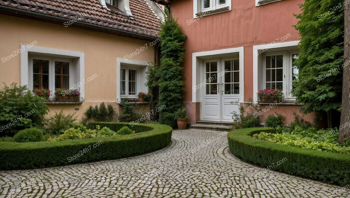
M 239 113 L 239 59 L 203 61 L 201 119 L 232 122 L 231 112 Z

